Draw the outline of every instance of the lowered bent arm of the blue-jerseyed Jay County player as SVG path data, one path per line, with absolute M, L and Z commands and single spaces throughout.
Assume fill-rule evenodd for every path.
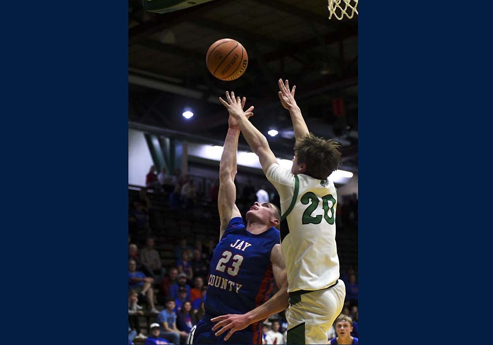
M 228 314 L 212 318 L 212 322 L 218 321 L 214 327 L 212 327 L 212 331 L 218 330 L 215 333 L 216 336 L 220 336 L 229 330 L 228 334 L 224 337 L 224 341 L 227 341 L 236 331 L 245 329 L 248 325 L 251 325 L 254 322 L 265 320 L 267 317 L 283 311 L 289 306 L 286 266 L 284 264 L 284 259 L 282 258 L 281 244 L 276 244 L 272 248 L 271 263 L 272 271 L 274 273 L 274 278 L 276 279 L 276 284 L 279 291 L 267 302 L 251 311 L 248 311 L 246 314 Z

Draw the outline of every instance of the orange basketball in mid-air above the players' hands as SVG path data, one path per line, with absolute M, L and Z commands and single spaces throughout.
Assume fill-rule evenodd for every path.
M 235 80 L 245 73 L 248 54 L 243 45 L 235 39 L 223 38 L 209 47 L 206 65 L 213 76 L 220 80 Z

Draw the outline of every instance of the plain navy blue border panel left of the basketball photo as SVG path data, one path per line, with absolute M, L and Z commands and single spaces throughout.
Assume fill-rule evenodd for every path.
M 2 340 L 125 344 L 128 3 L 2 13 Z

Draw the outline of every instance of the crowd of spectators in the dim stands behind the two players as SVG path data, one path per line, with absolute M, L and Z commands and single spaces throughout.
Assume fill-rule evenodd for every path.
M 181 175 L 179 170 L 170 175 L 163 168 L 156 174 L 154 167 L 146 176 L 146 187 L 136 193 L 129 207 L 129 344 L 144 344 L 144 341 L 145 344 L 185 344 L 190 330 L 204 315 L 207 278 L 216 242 L 212 239 L 193 242 L 182 236 L 173 243 L 174 250 L 169 254 L 174 257 L 173 264 L 165 267 L 159 250 L 164 244 L 169 248 L 170 242 L 159 243 L 157 234 L 151 230 L 153 208 L 147 190 L 169 195 L 171 209 L 195 207 L 199 191 L 194 180 Z M 264 186 L 255 188 L 251 180 L 238 190 L 242 191 L 237 200 L 239 208 L 250 207 L 255 201 L 279 203 L 276 193 L 269 194 Z M 201 193 L 206 195 L 204 190 Z M 213 181 L 207 193 L 208 203 L 213 207 L 216 207 L 217 194 L 218 182 Z M 337 212 L 339 222 L 357 226 L 357 196 L 345 197 Z M 336 320 L 329 330 L 328 344 L 346 344 L 349 340 L 357 342 L 357 272 L 350 267 L 341 272 L 341 279 L 346 284 L 346 300 L 341 312 L 345 316 L 338 319 L 339 323 Z M 147 329 L 141 329 L 140 320 L 152 323 L 150 326 L 146 324 Z M 286 344 L 284 312 L 271 316 L 263 326 L 263 344 Z

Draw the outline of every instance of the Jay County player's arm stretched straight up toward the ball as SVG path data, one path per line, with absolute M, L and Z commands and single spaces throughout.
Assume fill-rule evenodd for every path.
M 250 106 L 246 112 L 243 112 L 246 98 L 240 102 L 240 109 L 244 117 L 251 116 L 253 106 Z M 240 136 L 240 128 L 234 117 L 230 115 L 228 120 L 228 133 L 224 140 L 221 161 L 219 163 L 219 195 L 217 198 L 217 207 L 219 210 L 219 218 L 221 219 L 221 227 L 219 232 L 219 240 L 221 239 L 224 230 L 228 226 L 231 218 L 241 217 L 236 201 L 236 152 L 238 150 L 238 138 Z

